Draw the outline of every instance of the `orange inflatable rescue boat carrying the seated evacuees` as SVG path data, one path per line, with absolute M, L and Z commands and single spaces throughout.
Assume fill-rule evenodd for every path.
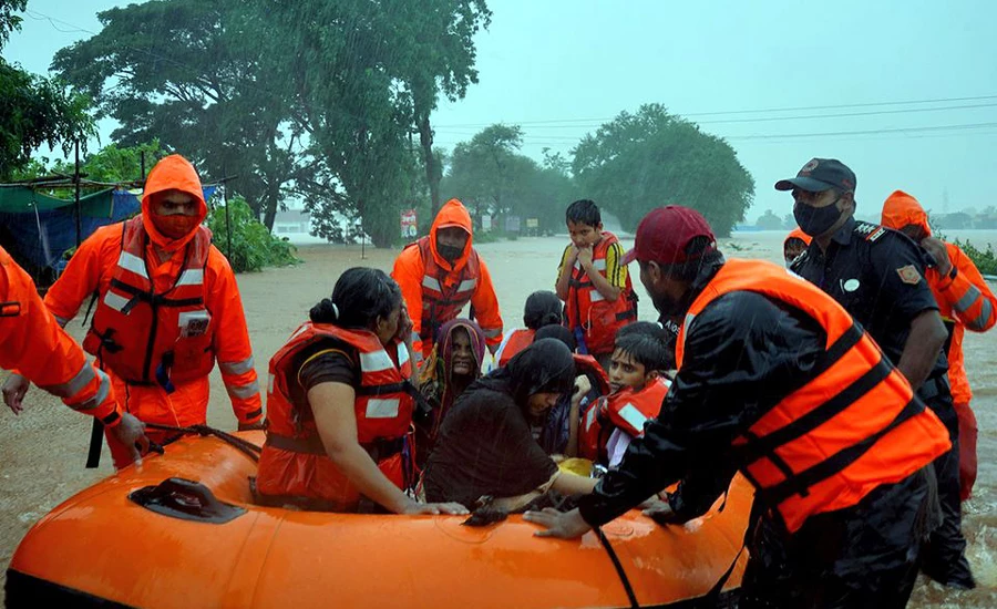
M 740 476 L 722 509 L 686 526 L 631 510 L 603 527 L 604 544 L 534 537 L 518 515 L 472 528 L 465 516 L 260 507 L 255 474 L 234 446 L 186 436 L 86 488 L 21 541 L 8 607 L 700 607 L 730 570 L 710 605 L 726 607 L 747 561 Z

